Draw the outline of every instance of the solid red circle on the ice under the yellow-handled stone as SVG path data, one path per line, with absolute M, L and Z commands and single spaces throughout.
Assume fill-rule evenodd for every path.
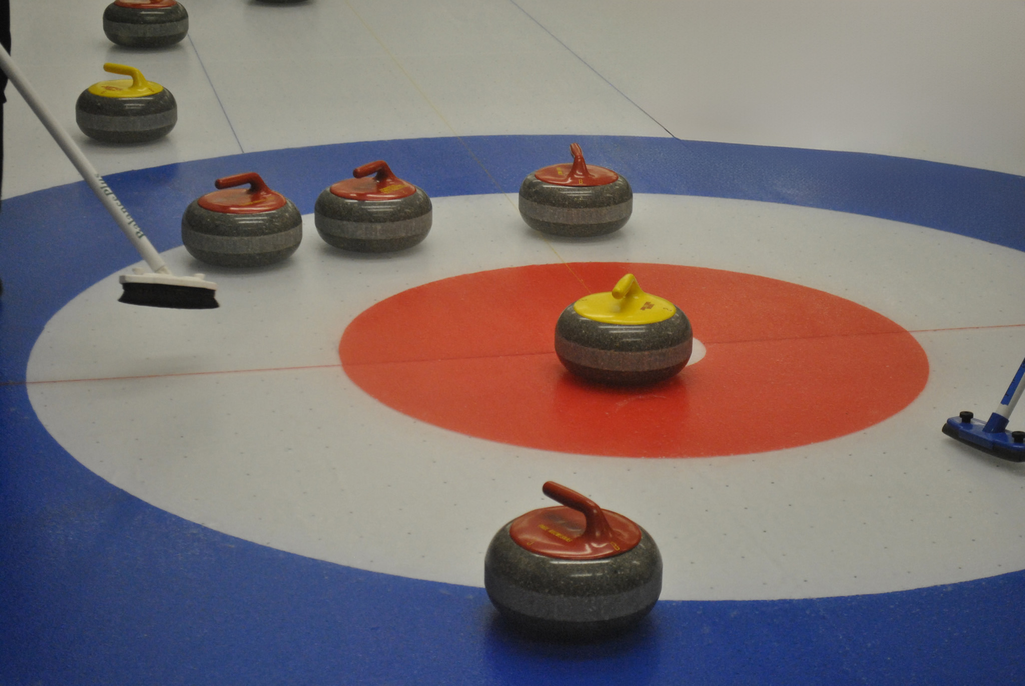
M 581 381 L 556 357 L 556 320 L 626 273 L 687 313 L 705 358 L 651 387 Z M 899 412 L 929 377 L 910 333 L 851 300 L 750 274 L 625 263 L 515 267 L 417 286 L 357 317 L 339 355 L 360 388 L 417 419 L 623 457 L 826 441 Z

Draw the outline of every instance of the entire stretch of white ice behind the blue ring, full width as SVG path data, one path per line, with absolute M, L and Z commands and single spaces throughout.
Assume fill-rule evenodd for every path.
M 102 3 L 12 4 L 14 57 L 104 174 L 352 140 L 668 132 L 1025 173 L 1021 2 L 190 0 L 189 38 L 150 51 L 107 40 Z M 105 62 L 174 93 L 166 138 L 78 131 Z M 7 94 L 3 196 L 77 180 Z

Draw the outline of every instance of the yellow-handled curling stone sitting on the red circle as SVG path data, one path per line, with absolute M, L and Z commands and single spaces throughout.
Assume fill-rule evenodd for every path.
M 641 290 L 627 274 L 609 293 L 591 293 L 563 310 L 556 322 L 556 355 L 590 381 L 654 384 L 680 372 L 694 336 L 680 308 Z

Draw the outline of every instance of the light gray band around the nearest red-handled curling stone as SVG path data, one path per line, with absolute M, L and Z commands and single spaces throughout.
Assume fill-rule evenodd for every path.
M 488 587 L 488 596 L 496 603 L 538 619 L 602 621 L 633 614 L 657 601 L 661 591 L 662 579 L 658 577 L 616 595 L 573 598 L 527 591 L 501 579 Z

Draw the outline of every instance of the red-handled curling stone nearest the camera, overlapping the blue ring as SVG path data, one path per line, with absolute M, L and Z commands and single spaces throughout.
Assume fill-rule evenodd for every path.
M 651 535 L 552 481 L 542 490 L 564 507 L 528 512 L 491 539 L 484 557 L 491 602 L 538 637 L 587 640 L 640 621 L 662 591 Z

